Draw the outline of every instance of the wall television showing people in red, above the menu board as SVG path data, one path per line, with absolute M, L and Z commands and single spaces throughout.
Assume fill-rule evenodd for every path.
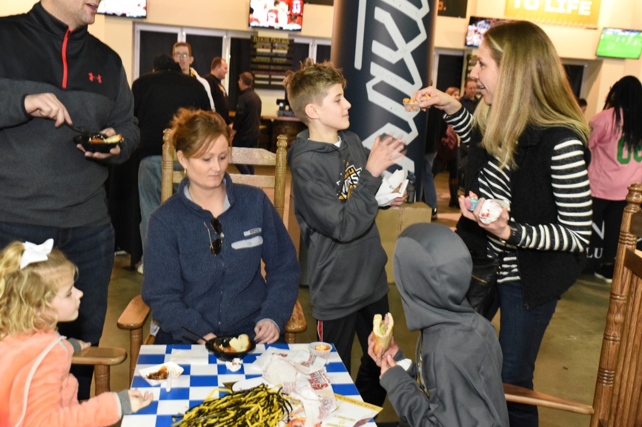
M 301 31 L 304 0 L 252 0 L 248 25 L 250 28 L 272 28 Z

